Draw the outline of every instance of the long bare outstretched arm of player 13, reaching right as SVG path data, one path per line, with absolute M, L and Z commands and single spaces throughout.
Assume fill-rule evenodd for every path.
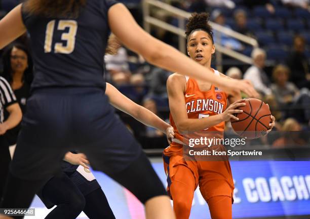
M 120 14 L 122 16 L 120 16 Z M 219 79 L 211 70 L 191 60 L 173 47 L 153 38 L 134 20 L 123 4 L 115 4 L 108 10 L 112 32 L 129 49 L 141 54 L 148 62 L 170 71 L 179 72 L 196 79 L 205 80 L 230 92 L 244 91 L 249 96 L 258 96 L 247 81 Z

